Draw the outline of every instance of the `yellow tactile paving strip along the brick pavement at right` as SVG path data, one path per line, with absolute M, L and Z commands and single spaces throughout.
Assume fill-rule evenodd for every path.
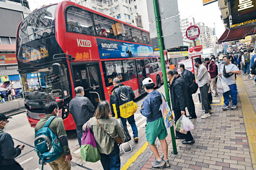
M 244 125 L 250 147 L 251 163 L 256 170 L 256 113 L 241 78 L 236 78 L 239 98 L 244 116 Z

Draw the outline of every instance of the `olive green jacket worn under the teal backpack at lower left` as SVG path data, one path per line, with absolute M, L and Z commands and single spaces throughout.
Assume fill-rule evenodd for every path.
M 37 125 L 35 126 L 35 133 L 37 133 L 37 131 L 40 130 L 44 126 L 44 124 L 46 124 L 47 120 L 51 116 L 53 116 L 53 115 L 46 115 L 39 122 L 37 122 Z M 50 130 L 52 130 L 52 132 L 54 134 L 57 135 L 65 155 L 69 155 L 70 149 L 69 149 L 69 143 L 67 142 L 67 133 L 64 128 L 63 119 L 62 118 L 54 118 L 52 120 L 52 122 L 50 123 L 49 128 L 50 128 Z

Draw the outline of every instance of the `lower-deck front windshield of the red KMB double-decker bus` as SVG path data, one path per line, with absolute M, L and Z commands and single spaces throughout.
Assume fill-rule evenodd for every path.
M 62 65 L 60 75 L 53 74 L 52 67 L 37 72 L 21 73 L 25 101 L 62 101 L 70 97 L 67 68 Z

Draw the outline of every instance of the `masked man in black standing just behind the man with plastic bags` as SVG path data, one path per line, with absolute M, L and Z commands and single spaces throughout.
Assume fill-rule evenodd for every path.
M 189 111 L 189 116 L 187 118 L 189 119 L 197 118 L 197 115 L 195 114 L 195 104 L 192 97 L 192 92 L 190 90 L 190 86 L 195 81 L 195 75 L 189 70 L 186 70 L 184 64 L 182 63 L 178 65 L 178 70 L 181 72 L 181 76 L 184 80 L 186 90 L 187 90 L 188 98 L 186 101 L 187 101 L 187 110 Z

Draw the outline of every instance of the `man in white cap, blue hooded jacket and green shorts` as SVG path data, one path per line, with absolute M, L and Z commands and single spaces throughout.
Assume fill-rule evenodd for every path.
M 165 128 L 165 122 L 162 116 L 162 112 L 160 110 L 160 106 L 162 104 L 162 97 L 160 92 L 154 90 L 154 82 L 151 78 L 145 78 L 142 81 L 143 88 L 148 93 L 146 98 L 143 100 L 142 105 L 140 106 L 143 116 L 146 119 L 146 140 L 148 141 L 149 148 L 153 152 L 155 156 L 155 161 L 151 163 L 152 167 L 169 167 L 169 161 L 167 158 L 168 154 L 168 145 L 166 142 L 166 136 L 168 135 L 167 130 Z M 155 145 L 155 140 L 159 139 L 162 149 L 163 149 L 163 157 L 161 158 L 158 151 L 157 146 Z

